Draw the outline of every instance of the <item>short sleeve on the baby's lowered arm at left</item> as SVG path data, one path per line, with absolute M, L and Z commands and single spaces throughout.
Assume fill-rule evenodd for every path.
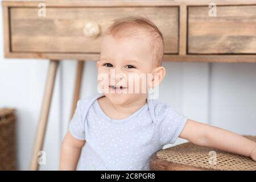
M 84 122 L 82 121 L 81 101 L 77 102 L 75 114 L 69 123 L 69 132 L 79 140 L 85 140 Z

